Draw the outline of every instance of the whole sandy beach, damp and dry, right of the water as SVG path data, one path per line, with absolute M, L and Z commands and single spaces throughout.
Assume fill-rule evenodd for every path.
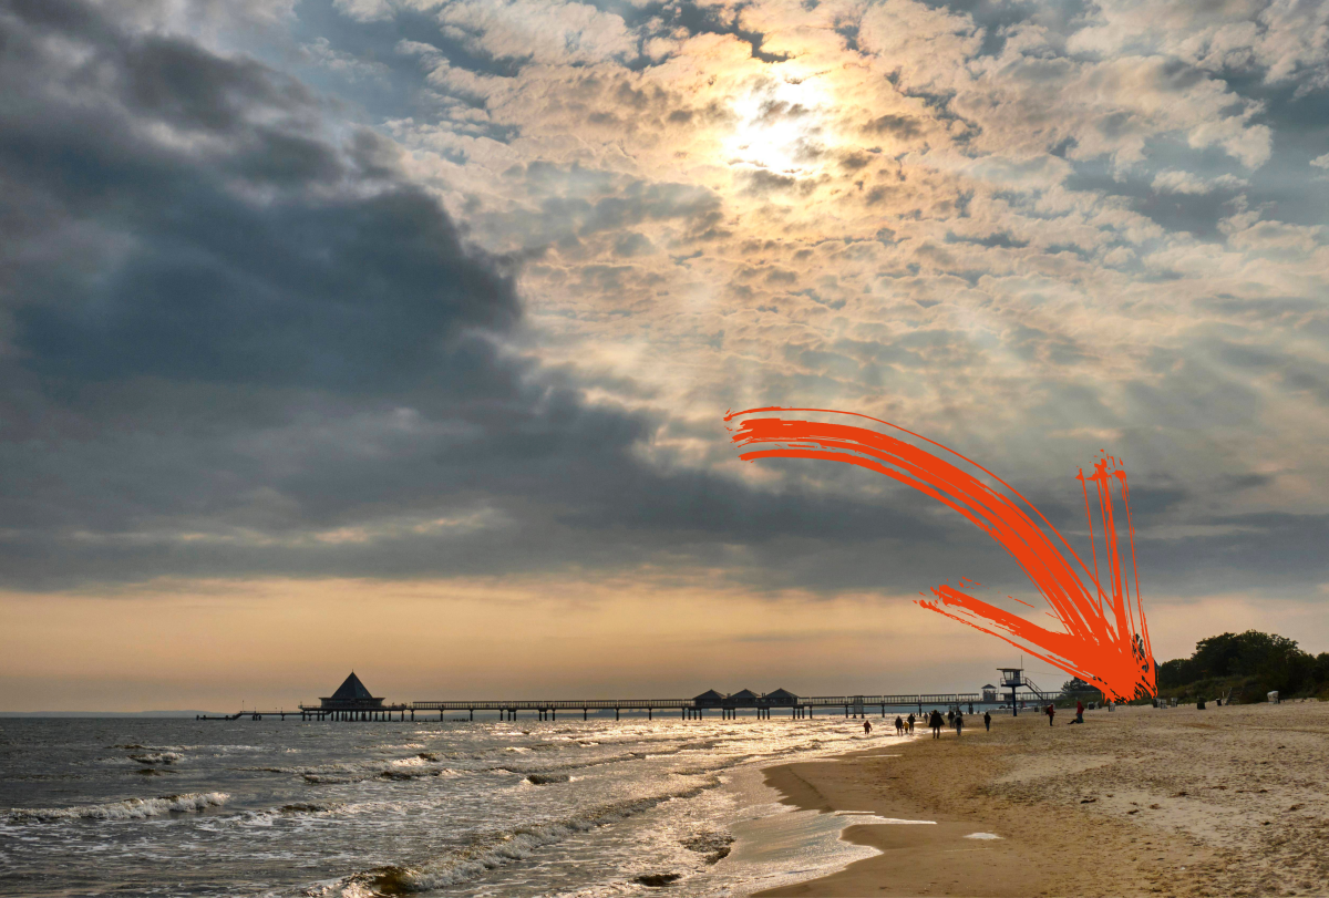
M 936 825 L 849 826 L 881 854 L 760 894 L 1329 894 L 1329 703 L 1071 717 L 771 768 L 787 804 Z

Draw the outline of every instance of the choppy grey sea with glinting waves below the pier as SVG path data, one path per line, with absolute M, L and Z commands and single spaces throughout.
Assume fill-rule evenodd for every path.
M 873 853 L 762 769 L 893 716 L 7 717 L 0 894 L 746 895 Z

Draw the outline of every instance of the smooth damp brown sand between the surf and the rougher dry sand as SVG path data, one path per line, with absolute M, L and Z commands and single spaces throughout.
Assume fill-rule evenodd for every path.
M 1154 709 L 1150 709 L 1154 711 Z M 1175 713 L 1175 712 L 1170 712 Z M 851 824 L 841 838 L 868 846 L 872 857 L 835 873 L 754 893 L 762 898 L 797 895 L 1155 895 L 1204 894 L 1200 867 L 1211 852 L 1185 834 L 1144 830 L 1132 820 L 1047 801 L 1005 794 L 1005 784 L 1041 778 L 1039 759 L 1057 759 L 1051 774 L 1071 776 L 1102 766 L 1076 751 L 1079 737 L 1103 741 L 1128 716 L 1123 711 L 1086 715 L 1086 725 L 1047 727 L 1037 712 L 981 720 L 957 737 L 933 740 L 922 731 L 909 741 L 816 761 L 766 768 L 766 784 L 780 802 L 819 813 L 872 813 L 930 825 Z M 1094 732 L 1098 731 L 1098 732 Z M 1051 743 L 1058 743 L 1055 748 Z M 1027 755 L 1047 748 L 1047 755 Z M 1120 747 L 1127 751 L 1126 747 Z M 1061 751 L 1058 751 L 1061 749 Z M 1069 749 L 1069 751 L 1067 751 Z M 1095 748 L 1095 752 L 1099 749 Z M 1079 756 L 1079 757 L 1076 757 Z M 978 838 L 970 838 L 979 836 Z M 998 838 L 985 838 L 997 836 Z M 1110 859 L 1108 859 L 1110 858 Z

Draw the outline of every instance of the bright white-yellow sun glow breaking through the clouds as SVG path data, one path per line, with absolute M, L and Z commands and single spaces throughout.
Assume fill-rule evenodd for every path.
M 732 102 L 738 116 L 723 151 L 731 166 L 808 177 L 821 171 L 832 97 L 813 76 L 763 78 Z

